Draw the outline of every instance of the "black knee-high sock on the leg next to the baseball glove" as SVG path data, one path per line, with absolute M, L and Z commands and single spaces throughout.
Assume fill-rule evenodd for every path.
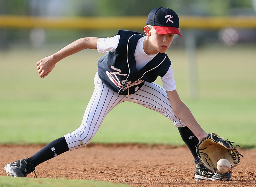
M 195 134 L 187 127 L 179 127 L 179 132 L 182 140 L 188 146 L 190 152 L 192 153 L 195 162 L 198 163 L 199 159 L 196 154 L 196 145 L 199 143 L 199 140 L 196 138 Z

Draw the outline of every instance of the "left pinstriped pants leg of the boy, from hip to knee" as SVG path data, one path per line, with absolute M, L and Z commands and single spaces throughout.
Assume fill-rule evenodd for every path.
M 94 85 L 94 91 L 84 112 L 81 125 L 72 133 L 64 136 L 69 150 L 85 147 L 90 143 L 108 112 L 124 101 L 124 96 L 119 95 L 102 83 L 98 73 L 94 77 Z M 122 116 L 118 115 L 122 119 Z

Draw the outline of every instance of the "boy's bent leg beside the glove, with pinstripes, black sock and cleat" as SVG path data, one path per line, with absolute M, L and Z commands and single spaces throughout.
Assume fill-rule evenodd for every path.
M 157 111 L 173 121 L 174 125 L 178 127 L 182 140 L 186 143 L 195 159 L 196 180 L 230 180 L 231 175 L 229 172 L 222 174 L 216 172 L 211 173 L 203 164 L 201 164 L 201 162 L 199 162 L 196 154 L 198 139 L 173 112 L 166 91 L 161 86 L 156 83 L 144 83 L 141 89 L 135 94 L 126 96 L 125 101 L 134 102 L 148 109 Z

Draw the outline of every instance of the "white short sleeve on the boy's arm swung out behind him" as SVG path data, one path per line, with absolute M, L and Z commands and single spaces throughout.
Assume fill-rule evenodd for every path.
M 106 52 L 114 52 L 119 43 L 120 35 L 116 35 L 109 38 L 99 38 L 97 41 L 97 50 L 100 54 Z

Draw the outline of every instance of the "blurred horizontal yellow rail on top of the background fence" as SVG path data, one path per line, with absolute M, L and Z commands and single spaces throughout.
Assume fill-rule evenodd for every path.
M 0 28 L 139 29 L 147 17 L 31 17 L 0 15 Z M 256 28 L 256 17 L 180 16 L 181 29 Z

